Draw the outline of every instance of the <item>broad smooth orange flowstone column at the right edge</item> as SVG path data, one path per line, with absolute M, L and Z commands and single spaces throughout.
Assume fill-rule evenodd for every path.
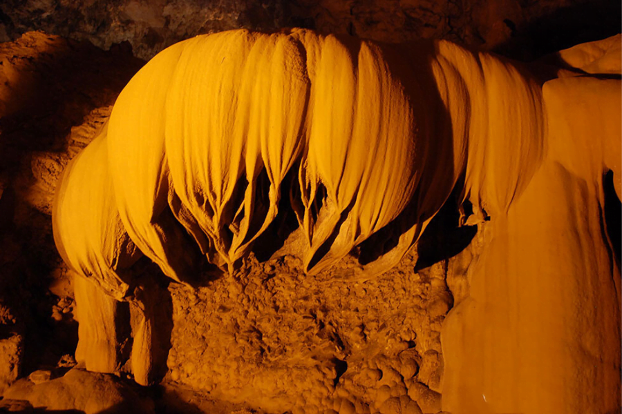
M 619 46 L 614 42 L 561 55 L 588 68 L 599 57 L 606 61 Z M 591 68 L 607 72 L 612 66 Z M 524 195 L 488 229 L 482 256 L 469 270 L 470 297 L 445 319 L 444 410 L 619 409 L 619 395 L 603 391 L 619 386 L 621 346 L 620 313 L 613 311 L 620 297 L 619 253 L 603 233 L 603 210 L 610 208 L 605 191 L 609 197 L 622 192 L 619 180 L 605 189 L 603 177 L 621 174 L 620 90 L 619 78 L 610 76 L 571 73 L 544 84 L 547 158 Z M 601 313 L 605 308 L 611 311 Z M 587 377 L 600 386 L 585 384 Z M 533 386 L 536 378 L 547 391 Z M 563 390 L 571 383 L 599 397 L 567 398 Z M 517 387 L 525 390 L 520 398 Z

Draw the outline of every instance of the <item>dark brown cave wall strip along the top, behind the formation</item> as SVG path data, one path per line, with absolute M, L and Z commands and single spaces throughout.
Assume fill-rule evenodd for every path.
M 149 59 L 196 34 L 311 28 L 397 43 L 447 39 L 533 59 L 619 32 L 616 0 L 6 0 L 0 40 L 44 30 L 108 49 L 129 41 Z

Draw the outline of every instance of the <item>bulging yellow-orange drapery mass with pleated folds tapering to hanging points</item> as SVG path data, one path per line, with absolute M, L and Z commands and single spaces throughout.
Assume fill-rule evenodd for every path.
M 522 99 L 507 108 L 509 94 Z M 308 30 L 198 36 L 133 77 L 91 144 L 98 149 L 81 156 L 83 168 L 73 164 L 85 171 L 66 173 L 57 245 L 73 268 L 122 297 L 118 268 L 139 250 L 176 280 L 192 272 L 195 244 L 232 270 L 287 197 L 305 271 L 390 225 L 397 246 L 360 269 L 381 273 L 461 175 L 478 208 L 507 208 L 540 158 L 540 100 L 515 67 L 444 41 L 400 48 Z M 79 196 L 71 177 L 88 174 L 105 186 Z M 102 219 L 87 223 L 73 210 Z

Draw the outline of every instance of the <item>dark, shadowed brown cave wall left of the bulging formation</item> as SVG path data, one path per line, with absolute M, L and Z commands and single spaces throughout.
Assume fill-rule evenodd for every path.
M 70 128 L 94 108 L 111 105 L 143 63 L 131 51 L 104 52 L 41 33 L 0 49 L 0 186 L 6 186 L 0 192 L 0 302 L 23 336 L 22 373 L 55 366 L 77 342 L 70 313 L 51 317 L 60 298 L 49 286 L 62 266 L 49 211 L 36 193 L 35 157 L 66 157 Z M 53 181 L 59 171 L 48 167 L 46 179 Z M 53 183 L 46 184 L 53 192 Z

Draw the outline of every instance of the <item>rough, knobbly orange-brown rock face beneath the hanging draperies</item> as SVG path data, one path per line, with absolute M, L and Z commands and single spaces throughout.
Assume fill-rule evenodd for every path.
M 446 262 L 415 273 L 413 259 L 357 281 L 251 258 L 196 290 L 171 284 L 168 378 L 270 412 L 436 413 L 453 297 Z

